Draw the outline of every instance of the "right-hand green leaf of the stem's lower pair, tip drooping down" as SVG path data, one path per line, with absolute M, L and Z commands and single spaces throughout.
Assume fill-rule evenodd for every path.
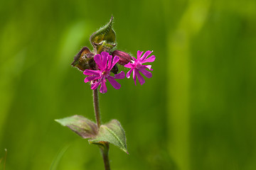
M 92 137 L 89 142 L 93 144 L 110 142 L 122 149 L 124 152 L 127 152 L 125 132 L 118 120 L 111 120 L 110 123 L 101 125 L 97 136 Z

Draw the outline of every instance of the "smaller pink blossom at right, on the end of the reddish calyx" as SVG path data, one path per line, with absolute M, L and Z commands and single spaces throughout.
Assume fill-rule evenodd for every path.
M 146 58 L 146 57 L 148 57 L 151 54 L 151 52 L 153 52 L 153 51 L 146 51 L 144 53 L 144 55 L 142 56 L 143 52 L 138 51 L 137 52 L 137 59 L 132 57 L 132 59 L 134 61 L 129 62 L 128 64 L 124 65 L 124 67 L 130 68 L 129 72 L 127 72 L 127 78 L 128 79 L 129 79 L 131 73 L 133 72 L 133 79 L 134 79 L 135 85 L 136 85 L 136 77 L 138 77 L 139 84 L 142 85 L 142 84 L 145 83 L 144 78 L 142 77 L 141 74 L 139 74 L 139 72 L 144 74 L 144 76 L 147 77 L 147 78 L 151 78 L 152 77 L 151 72 L 146 70 L 146 69 L 149 69 L 149 70 L 152 71 L 153 69 L 151 69 L 151 65 L 142 65 L 145 62 L 154 62 L 154 60 L 156 59 L 156 57 L 154 55 L 152 55 L 149 58 Z

